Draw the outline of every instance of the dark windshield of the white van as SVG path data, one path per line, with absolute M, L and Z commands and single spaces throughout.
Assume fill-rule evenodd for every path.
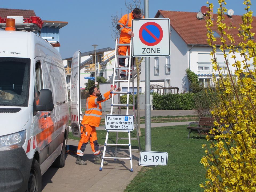
M 0 106 L 28 106 L 30 59 L 0 57 Z

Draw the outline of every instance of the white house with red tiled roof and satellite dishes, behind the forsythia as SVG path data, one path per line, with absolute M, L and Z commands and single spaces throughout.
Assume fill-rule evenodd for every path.
M 179 93 L 189 91 L 189 81 L 186 77 L 186 69 L 189 68 L 198 75 L 199 82 L 209 86 L 213 69 L 211 64 L 211 47 L 207 43 L 206 20 L 204 17 L 197 18 L 195 12 L 164 11 L 158 10 L 155 18 L 170 19 L 170 57 L 150 57 L 150 83 L 165 87 L 178 87 Z M 256 18 L 253 17 L 252 32 L 256 32 Z M 213 31 L 217 38 L 217 62 L 224 72 L 227 72 L 223 53 L 219 50 L 220 34 L 217 30 L 217 14 L 213 14 Z M 236 27 L 232 30 L 235 45 L 240 42 L 239 23 L 242 23 L 241 15 L 225 15 L 225 23 Z M 230 33 L 230 32 L 227 32 Z M 242 61 L 239 53 L 237 59 Z M 232 63 L 234 59 L 231 54 L 227 55 L 230 69 L 234 71 Z M 143 65 L 142 65 L 143 67 Z M 253 65 L 251 65 L 253 67 Z M 141 70 L 141 79 L 145 77 L 145 70 Z M 142 79 L 143 81 L 144 79 Z M 167 91 L 167 90 L 166 90 Z

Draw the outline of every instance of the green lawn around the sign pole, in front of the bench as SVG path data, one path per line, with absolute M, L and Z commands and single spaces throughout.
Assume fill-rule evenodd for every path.
M 143 167 L 127 186 L 125 192 L 203 191 L 199 184 L 206 180 L 204 177 L 206 171 L 199 162 L 204 155 L 202 144 L 207 141 L 203 137 L 199 138 L 195 132 L 194 135 L 190 134 L 193 139 L 187 139 L 189 130 L 186 127 L 187 125 L 151 128 L 151 150 L 167 152 L 168 164 L 167 166 Z M 145 129 L 141 131 L 141 148 L 145 150 Z M 119 133 L 119 137 L 121 134 Z M 102 145 L 105 142 L 106 131 L 97 131 L 97 136 L 99 144 Z M 127 133 L 124 136 L 127 137 Z M 115 133 L 109 134 L 109 141 L 115 142 L 115 137 Z M 138 148 L 136 140 L 132 140 L 132 148 Z

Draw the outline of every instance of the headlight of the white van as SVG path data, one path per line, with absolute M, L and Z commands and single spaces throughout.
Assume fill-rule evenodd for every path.
M 0 136 L 0 151 L 12 150 L 21 147 L 26 140 L 27 131 L 20 131 L 10 135 Z

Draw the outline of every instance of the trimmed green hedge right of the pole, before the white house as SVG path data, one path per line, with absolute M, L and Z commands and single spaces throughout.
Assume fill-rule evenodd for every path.
M 195 109 L 194 93 L 159 95 L 153 93 L 153 109 L 155 110 L 191 110 Z

